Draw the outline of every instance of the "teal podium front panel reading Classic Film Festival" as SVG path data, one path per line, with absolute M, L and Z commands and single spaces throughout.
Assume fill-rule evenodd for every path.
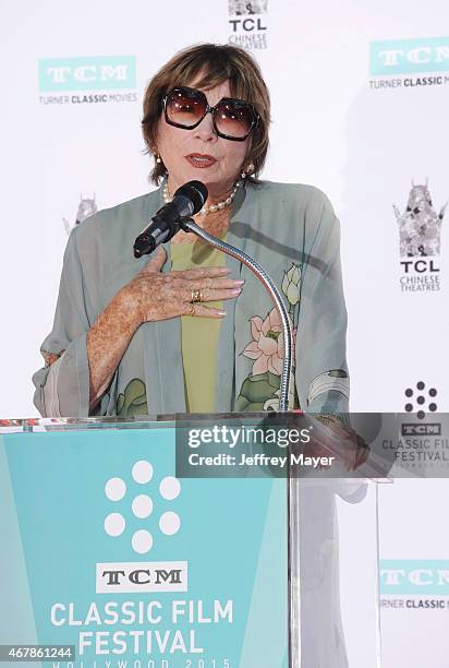
M 287 481 L 177 479 L 174 442 L 0 437 L 0 644 L 74 645 L 58 668 L 288 665 Z

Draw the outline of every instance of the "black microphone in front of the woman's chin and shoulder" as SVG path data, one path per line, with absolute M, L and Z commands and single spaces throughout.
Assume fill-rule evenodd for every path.
M 207 188 L 201 181 L 189 181 L 181 186 L 172 201 L 159 208 L 151 223 L 134 241 L 134 258 L 153 253 L 159 243 L 169 241 L 179 231 L 183 218 L 189 218 L 203 208 L 207 195 Z

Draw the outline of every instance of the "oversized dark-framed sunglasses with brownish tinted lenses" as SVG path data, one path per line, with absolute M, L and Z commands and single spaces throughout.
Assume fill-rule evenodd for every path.
M 232 142 L 244 142 L 257 126 L 259 116 L 253 105 L 222 97 L 210 107 L 206 95 L 195 88 L 172 88 L 162 99 L 163 114 L 169 126 L 193 130 L 210 111 L 214 130 L 218 136 Z

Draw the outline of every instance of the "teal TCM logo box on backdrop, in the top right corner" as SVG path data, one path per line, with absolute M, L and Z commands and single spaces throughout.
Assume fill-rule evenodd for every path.
M 449 37 L 372 41 L 371 74 L 413 74 L 449 70 Z

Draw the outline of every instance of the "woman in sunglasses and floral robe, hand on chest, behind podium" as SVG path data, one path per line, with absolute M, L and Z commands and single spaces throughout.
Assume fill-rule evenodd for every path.
M 296 342 L 291 405 L 347 409 L 338 220 L 317 189 L 257 179 L 269 118 L 260 71 L 238 47 L 187 48 L 154 76 L 143 133 L 162 186 L 71 234 L 46 366 L 33 379 L 41 415 L 278 406 L 283 335 L 253 274 L 183 231 L 149 260 L 133 258 L 135 237 L 192 179 L 209 192 L 196 223 L 283 291 Z

